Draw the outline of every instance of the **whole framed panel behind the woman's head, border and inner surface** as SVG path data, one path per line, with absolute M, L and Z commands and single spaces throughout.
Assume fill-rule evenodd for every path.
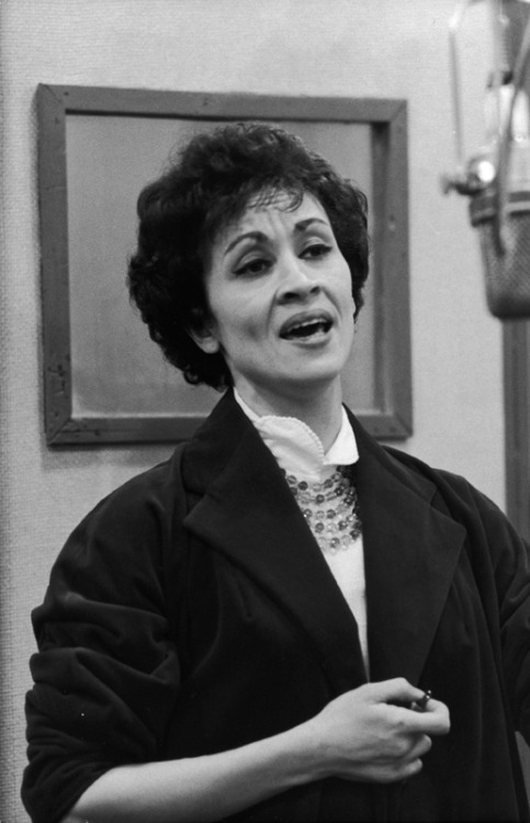
M 163 363 L 128 304 L 125 273 L 139 190 L 191 134 L 230 121 L 294 131 L 364 188 L 371 274 L 345 399 L 374 437 L 410 436 L 405 100 L 50 84 L 36 98 L 50 447 L 176 442 L 218 398 Z

